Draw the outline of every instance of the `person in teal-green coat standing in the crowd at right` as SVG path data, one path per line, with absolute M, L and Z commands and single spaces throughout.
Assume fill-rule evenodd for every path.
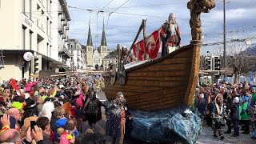
M 250 134 L 250 115 L 249 115 L 249 97 L 242 97 L 242 111 L 241 111 L 241 121 L 244 126 L 244 131 L 242 134 Z

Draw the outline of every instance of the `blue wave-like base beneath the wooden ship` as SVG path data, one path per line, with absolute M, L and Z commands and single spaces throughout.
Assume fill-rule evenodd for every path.
M 184 108 L 155 112 L 130 110 L 133 115 L 130 137 L 153 143 L 194 143 L 201 134 L 197 114 L 185 114 Z M 190 111 L 191 112 L 191 111 Z

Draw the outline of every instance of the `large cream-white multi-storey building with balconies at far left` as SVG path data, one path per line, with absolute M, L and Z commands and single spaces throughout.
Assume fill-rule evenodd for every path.
M 66 6 L 65 0 L 1 1 L 0 50 L 5 56 L 1 80 L 29 78 L 33 63 L 24 60 L 26 52 L 38 58 L 35 73 L 67 64 L 69 53 L 64 49 L 70 15 Z

